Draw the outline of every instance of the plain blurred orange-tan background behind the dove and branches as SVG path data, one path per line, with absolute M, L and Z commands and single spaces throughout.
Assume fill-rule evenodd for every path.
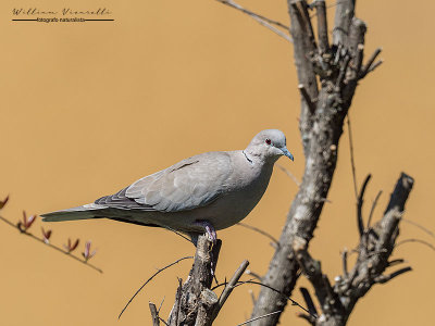
M 285 1 L 244 1 L 249 9 L 288 24 Z M 333 4 L 328 1 L 328 4 Z M 350 117 L 358 181 L 373 174 L 365 215 L 380 189 L 380 218 L 399 173 L 415 178 L 406 218 L 435 230 L 428 203 L 435 184 L 433 2 L 358 1 L 369 26 L 366 50 L 382 46 L 385 64 L 357 90 Z M 279 128 L 299 179 L 303 154 L 298 131 L 299 95 L 293 48 L 253 20 L 213 0 L 70 1 L 65 7 L 113 12 L 114 22 L 45 24 L 12 22 L 12 9 L 62 8 L 59 1 L 2 1 L 0 197 L 2 216 L 41 214 L 88 203 L 141 176 L 210 150 L 243 149 L 261 129 Z M 330 9 L 333 17 L 334 9 Z M 330 21 L 330 28 L 332 28 Z M 340 251 L 357 243 L 348 150 L 341 138 L 338 167 L 315 238 L 313 256 L 331 279 L 341 273 Z M 278 237 L 296 185 L 275 168 L 269 189 L 245 220 Z M 33 231 L 39 236 L 41 222 Z M 52 243 L 91 239 L 92 263 L 102 275 L 0 224 L 2 325 L 150 325 L 148 301 L 162 316 L 174 301 L 185 261 L 159 275 L 116 319 L 135 290 L 157 267 L 194 253 L 190 243 L 161 229 L 111 221 L 45 224 Z M 273 254 L 266 238 L 234 226 L 223 240 L 217 277 L 229 277 L 244 259 L 263 274 Z M 428 235 L 402 224 L 399 239 Z M 79 254 L 77 251 L 76 254 Z M 434 252 L 418 243 L 397 249 L 414 271 L 361 300 L 350 325 L 430 325 L 435 291 Z M 394 271 L 394 268 L 391 269 Z M 299 286 L 309 286 L 300 278 Z M 238 288 L 215 325 L 249 317 L 249 287 Z M 258 288 L 252 288 L 257 293 Z M 301 300 L 299 291 L 294 298 Z M 288 306 L 283 325 L 306 325 Z

